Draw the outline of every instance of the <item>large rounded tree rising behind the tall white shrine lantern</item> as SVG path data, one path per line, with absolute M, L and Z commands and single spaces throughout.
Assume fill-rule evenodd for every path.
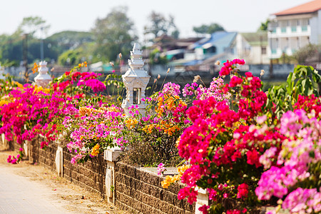
M 126 12 L 126 7 L 118 7 L 105 18 L 96 20 L 92 29 L 96 37 L 94 54 L 100 56 L 98 58 L 102 61 L 114 61 L 119 53 L 128 56 L 133 41 L 137 39 L 133 31 L 133 21 L 127 17 Z

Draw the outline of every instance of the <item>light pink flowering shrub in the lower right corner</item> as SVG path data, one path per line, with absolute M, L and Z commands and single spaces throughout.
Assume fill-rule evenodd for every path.
M 320 188 L 321 175 L 320 116 L 319 113 L 315 115 L 315 111 L 307 114 L 302 109 L 288 111 L 282 116 L 280 133 L 287 139 L 281 150 L 270 148 L 265 151 L 265 156 L 260 157 L 260 162 L 269 170 L 263 173 L 255 190 L 259 200 L 269 200 L 272 195 L 277 198 L 287 195 L 282 208 L 291 213 L 321 211 L 321 193 L 317 189 Z

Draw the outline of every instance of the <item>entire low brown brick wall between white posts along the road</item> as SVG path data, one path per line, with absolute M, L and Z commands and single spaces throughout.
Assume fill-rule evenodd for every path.
M 46 150 L 40 148 L 41 137 L 29 143 L 29 161 L 45 165 L 56 170 L 56 143 L 49 143 Z M 92 161 L 78 165 L 71 164 L 73 154 L 63 148 L 63 177 L 88 190 L 106 197 L 107 161 L 98 156 Z M 131 213 L 150 214 L 192 214 L 195 204 L 190 205 L 186 199 L 178 200 L 177 194 L 183 184 L 176 183 L 170 188 L 161 187 L 161 178 L 153 173 L 140 170 L 131 165 L 118 162 L 115 165 L 116 206 Z

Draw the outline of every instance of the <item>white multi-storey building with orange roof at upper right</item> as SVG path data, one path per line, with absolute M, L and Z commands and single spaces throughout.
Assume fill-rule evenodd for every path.
M 291 56 L 307 44 L 321 43 L 321 0 L 280 11 L 270 19 L 270 58 Z

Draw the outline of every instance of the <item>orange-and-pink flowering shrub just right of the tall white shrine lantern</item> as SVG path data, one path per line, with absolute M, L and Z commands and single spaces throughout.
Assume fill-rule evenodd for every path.
M 125 121 L 131 148 L 127 156 L 129 162 L 139 165 L 156 165 L 160 162 L 175 165 L 181 161 L 175 145 L 190 121 L 186 119 L 187 104 L 179 94 L 179 85 L 166 83 L 162 91 L 146 98 L 146 116 L 141 115 L 138 106 L 131 107 L 132 118 Z

